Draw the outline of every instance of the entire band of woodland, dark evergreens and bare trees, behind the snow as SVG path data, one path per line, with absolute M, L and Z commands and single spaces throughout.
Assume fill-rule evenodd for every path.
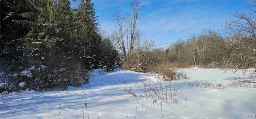
M 236 12 L 226 20 L 224 33 L 204 29 L 168 49 L 142 40 L 139 2 L 131 14 L 113 15 L 116 30 L 103 37 L 94 4 L 79 0 L 1 0 L 1 83 L 5 90 L 66 90 L 81 86 L 95 68 L 115 66 L 138 72 L 168 75 L 170 68 L 252 69 L 256 73 L 256 2 L 249 12 Z M 25 86 L 19 86 L 25 82 Z M 1 90 L 2 92 L 2 90 Z

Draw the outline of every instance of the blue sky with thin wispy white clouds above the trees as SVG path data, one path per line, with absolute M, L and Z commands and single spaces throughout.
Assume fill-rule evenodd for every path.
M 79 1 L 78 1 L 79 2 Z M 132 0 L 92 0 L 100 23 L 100 29 L 111 32 L 115 29 L 112 15 L 122 11 L 124 16 L 131 13 Z M 222 33 L 224 19 L 234 19 L 236 10 L 246 10 L 245 2 L 229 1 L 174 1 L 140 0 L 144 10 L 140 12 L 140 29 L 143 37 L 155 41 L 156 47 L 167 48 L 174 41 L 186 40 L 202 29 L 211 28 Z M 72 3 L 76 6 L 78 3 Z

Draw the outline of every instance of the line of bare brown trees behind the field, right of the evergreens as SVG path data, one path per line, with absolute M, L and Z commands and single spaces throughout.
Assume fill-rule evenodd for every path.
M 236 11 L 233 20 L 225 20 L 222 33 L 202 29 L 192 33 L 190 40 L 179 40 L 168 49 L 154 48 L 154 41 L 142 40 L 139 12 L 144 9 L 139 2 L 131 4 L 132 13 L 113 15 L 116 30 L 112 40 L 120 49 L 122 68 L 138 72 L 158 72 L 159 66 L 244 69 L 256 73 L 256 1 L 245 2 L 248 12 Z M 164 65 L 163 65 L 164 64 Z

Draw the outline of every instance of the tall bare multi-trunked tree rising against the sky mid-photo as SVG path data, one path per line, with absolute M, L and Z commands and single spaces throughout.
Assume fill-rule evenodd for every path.
M 129 56 L 134 52 L 134 47 L 138 39 L 140 38 L 139 32 L 139 12 L 144 9 L 144 6 L 140 6 L 140 2 L 133 2 L 130 5 L 132 14 L 128 18 L 123 18 L 121 12 L 116 12 L 113 15 L 113 21 L 116 22 L 117 29 L 112 33 L 113 39 L 118 42 L 118 48 Z

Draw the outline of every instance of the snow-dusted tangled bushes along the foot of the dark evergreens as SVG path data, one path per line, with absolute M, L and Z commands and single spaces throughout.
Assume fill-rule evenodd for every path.
M 68 86 L 81 86 L 88 82 L 88 73 L 80 66 L 74 61 L 66 64 L 62 62 L 58 65 L 51 64 L 51 67 L 32 66 L 15 74 L 1 76 L 1 83 L 6 84 L 4 89 L 8 92 L 22 92 L 26 89 L 67 90 Z M 26 85 L 21 87 L 20 82 L 26 82 Z

